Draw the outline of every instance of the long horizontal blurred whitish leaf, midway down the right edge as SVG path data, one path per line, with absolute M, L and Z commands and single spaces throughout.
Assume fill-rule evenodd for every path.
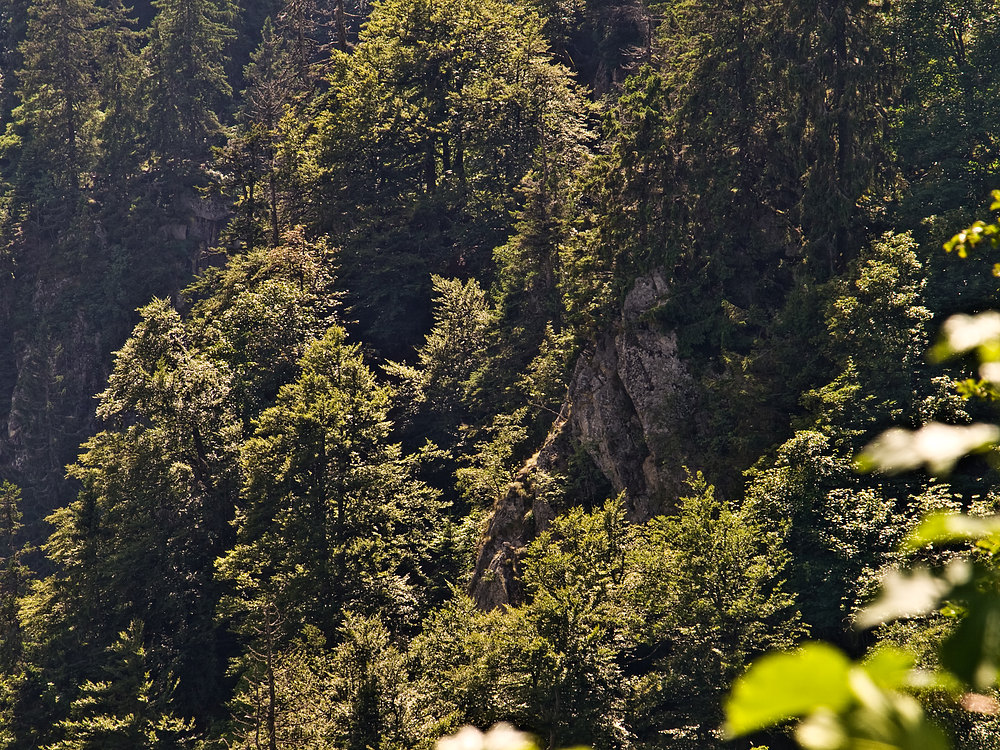
M 886 430 L 862 452 L 857 465 L 897 473 L 926 466 L 931 474 L 947 474 L 963 456 L 980 451 L 1000 439 L 993 424 L 947 425 L 930 422 L 919 430 L 899 427 Z

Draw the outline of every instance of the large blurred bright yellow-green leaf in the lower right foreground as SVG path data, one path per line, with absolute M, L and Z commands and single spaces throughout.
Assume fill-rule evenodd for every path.
M 821 708 L 845 709 L 852 701 L 850 668 L 850 660 L 825 643 L 759 659 L 733 686 L 726 732 L 737 737 Z

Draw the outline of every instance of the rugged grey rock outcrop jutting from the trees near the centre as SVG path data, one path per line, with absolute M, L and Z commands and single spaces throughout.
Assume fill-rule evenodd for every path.
M 668 294 L 661 275 L 640 278 L 615 329 L 577 361 L 545 444 L 493 509 L 469 586 L 480 607 L 520 601 L 520 550 L 556 515 L 538 488 L 565 470 L 574 446 L 622 493 L 629 520 L 646 521 L 676 501 L 695 431 L 696 390 L 676 335 L 651 321 Z

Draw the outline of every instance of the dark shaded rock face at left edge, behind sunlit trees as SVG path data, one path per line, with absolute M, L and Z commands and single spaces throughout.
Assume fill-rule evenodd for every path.
M 200 270 L 227 211 L 192 191 L 150 220 L 146 228 L 159 232 L 109 237 L 89 217 L 72 242 L 30 237 L 17 247 L 18 262 L 0 267 L 0 480 L 21 486 L 32 542 L 78 490 L 66 465 L 98 428 L 94 394 L 106 387 L 135 309 Z

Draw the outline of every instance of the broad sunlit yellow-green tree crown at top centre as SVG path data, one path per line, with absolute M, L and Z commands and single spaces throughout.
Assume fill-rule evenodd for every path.
M 330 109 L 353 137 L 326 146 L 370 153 L 369 170 L 388 161 L 383 179 L 404 190 L 433 192 L 439 180 L 456 179 L 496 210 L 557 114 L 547 112 L 559 95 L 550 89 L 567 85 L 543 62 L 543 45 L 537 17 L 516 5 L 380 3 Z M 331 163 L 343 168 L 361 154 Z

